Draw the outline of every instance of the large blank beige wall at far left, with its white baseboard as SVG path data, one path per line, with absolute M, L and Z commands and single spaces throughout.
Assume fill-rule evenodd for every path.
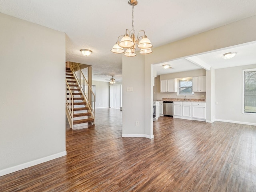
M 0 13 L 0 176 L 66 155 L 65 34 Z

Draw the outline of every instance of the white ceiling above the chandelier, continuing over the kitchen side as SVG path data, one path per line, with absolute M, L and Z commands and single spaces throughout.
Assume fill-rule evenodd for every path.
M 138 0 L 134 6 L 134 30 L 136 35 L 145 30 L 154 47 L 158 47 L 254 16 L 255 7 L 256 0 Z M 122 54 L 113 54 L 110 49 L 126 28 L 132 28 L 132 7 L 128 0 L 0 0 L 0 12 L 65 32 L 66 61 L 92 65 L 93 74 L 98 74 L 93 75 L 93 80 L 105 80 L 106 74 L 122 80 Z M 92 54 L 85 57 L 80 49 L 90 49 Z M 251 52 L 242 50 L 242 47 L 232 49 L 238 52 L 235 65 L 241 61 L 244 64 L 255 46 L 246 49 Z M 229 52 L 222 51 L 197 59 L 214 68 L 234 66 L 234 58 L 220 60 L 220 56 Z M 255 58 L 249 60 L 248 63 L 256 63 Z M 168 69 L 170 72 L 198 68 L 186 59 L 170 64 L 174 67 Z

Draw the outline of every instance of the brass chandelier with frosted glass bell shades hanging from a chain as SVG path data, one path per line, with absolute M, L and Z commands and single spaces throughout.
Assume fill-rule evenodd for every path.
M 119 36 L 117 38 L 116 44 L 111 49 L 111 52 L 113 53 L 124 53 L 125 56 L 128 57 L 134 57 L 136 56 L 135 50 L 136 45 L 138 48 L 140 48 L 140 54 L 150 54 L 152 53 L 152 44 L 148 37 L 146 36 L 146 33 L 144 30 L 140 30 L 137 35 L 137 39 L 135 38 L 135 30 L 133 29 L 133 9 L 134 6 L 138 4 L 137 0 L 129 0 L 128 4 L 132 6 L 132 30 L 129 31 L 126 29 L 125 34 L 122 36 Z M 144 32 L 143 36 L 139 36 L 140 32 Z M 128 34 L 129 33 L 129 34 Z M 121 41 L 119 41 L 119 38 L 123 37 Z M 140 40 L 141 39 L 141 40 Z M 127 50 L 124 52 L 124 48 Z

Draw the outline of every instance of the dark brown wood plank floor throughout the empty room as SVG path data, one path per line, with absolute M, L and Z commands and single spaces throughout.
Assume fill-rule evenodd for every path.
M 0 177 L 1 192 L 256 192 L 256 126 L 160 117 L 122 138 L 122 112 L 66 127 L 67 156 Z

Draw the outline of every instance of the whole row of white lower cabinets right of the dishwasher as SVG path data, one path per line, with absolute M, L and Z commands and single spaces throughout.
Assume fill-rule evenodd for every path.
M 173 117 L 188 120 L 205 121 L 205 102 L 173 102 Z

